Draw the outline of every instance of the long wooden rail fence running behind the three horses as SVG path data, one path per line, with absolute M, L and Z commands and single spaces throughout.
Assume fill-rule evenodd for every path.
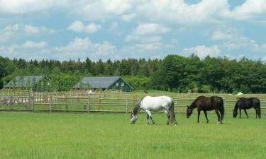
M 0 95 L 0 111 L 46 112 L 131 112 L 140 98 L 115 95 Z M 185 112 L 194 98 L 173 98 L 175 112 Z M 232 109 L 236 100 L 224 100 L 226 110 Z M 266 100 L 261 100 L 262 110 Z M 230 110 L 231 112 L 231 110 Z

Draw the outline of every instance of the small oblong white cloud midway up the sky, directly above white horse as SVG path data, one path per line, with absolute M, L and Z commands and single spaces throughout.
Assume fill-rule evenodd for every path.
M 142 23 L 135 28 L 136 35 L 164 34 L 168 33 L 170 28 L 157 23 Z

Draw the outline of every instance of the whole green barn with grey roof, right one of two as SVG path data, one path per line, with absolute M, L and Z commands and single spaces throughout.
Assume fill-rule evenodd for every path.
M 122 90 L 132 92 L 133 88 L 121 76 L 92 76 L 84 77 L 74 87 L 84 90 Z

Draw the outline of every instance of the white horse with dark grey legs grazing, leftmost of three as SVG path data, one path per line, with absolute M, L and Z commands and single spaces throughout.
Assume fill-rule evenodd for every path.
M 162 109 L 164 109 L 165 113 L 167 114 L 167 124 L 169 124 L 169 122 L 174 122 L 175 125 L 177 124 L 177 120 L 175 119 L 174 114 L 174 101 L 168 96 L 146 96 L 145 98 L 142 98 L 140 101 L 138 101 L 133 111 L 131 112 L 131 124 L 135 124 L 135 122 L 137 121 L 138 112 L 140 112 L 140 109 L 143 109 L 145 110 L 145 112 L 147 112 L 147 124 L 149 124 L 149 119 L 151 119 L 153 124 L 155 124 L 150 111 L 158 112 Z

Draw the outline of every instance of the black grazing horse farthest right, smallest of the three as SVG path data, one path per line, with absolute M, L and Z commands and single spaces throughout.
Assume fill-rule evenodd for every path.
M 233 117 L 235 118 L 238 115 L 238 109 L 239 109 L 239 117 L 241 118 L 241 110 L 244 110 L 245 114 L 248 117 L 248 113 L 246 110 L 254 107 L 256 111 L 256 119 L 257 117 L 261 118 L 261 112 L 260 112 L 260 100 L 257 98 L 240 98 L 235 103 L 235 108 L 233 109 Z

